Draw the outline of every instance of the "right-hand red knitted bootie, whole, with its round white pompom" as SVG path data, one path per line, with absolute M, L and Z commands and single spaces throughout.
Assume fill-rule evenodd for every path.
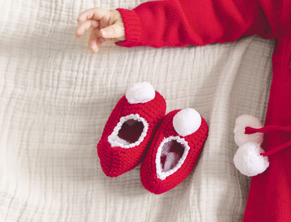
M 145 189 L 160 194 L 182 182 L 193 169 L 207 134 L 207 123 L 195 109 L 168 113 L 141 164 Z

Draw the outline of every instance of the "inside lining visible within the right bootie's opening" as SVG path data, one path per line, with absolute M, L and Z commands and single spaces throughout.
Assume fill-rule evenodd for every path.
M 166 142 L 161 152 L 162 172 L 173 169 L 182 158 L 184 150 L 184 145 L 178 143 L 176 140 Z M 167 166 L 165 166 L 166 161 Z

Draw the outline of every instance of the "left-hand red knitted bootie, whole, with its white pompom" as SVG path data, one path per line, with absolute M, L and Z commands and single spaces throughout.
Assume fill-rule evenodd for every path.
M 148 82 L 130 86 L 113 109 L 97 144 L 103 172 L 117 177 L 143 160 L 164 117 L 166 102 Z

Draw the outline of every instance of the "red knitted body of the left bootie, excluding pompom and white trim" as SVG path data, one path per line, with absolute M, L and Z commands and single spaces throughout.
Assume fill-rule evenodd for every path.
M 152 141 L 153 135 L 164 117 L 166 102 L 162 95 L 155 92 L 155 98 L 146 103 L 130 104 L 123 96 L 113 109 L 104 127 L 101 139 L 97 144 L 97 153 L 103 172 L 109 177 L 117 177 L 130 171 L 143 160 L 146 151 Z M 132 148 L 112 147 L 108 142 L 108 136 L 113 132 L 121 117 L 129 114 L 138 114 L 148 123 L 148 131 L 142 142 Z M 131 121 L 131 120 L 128 120 Z M 133 143 L 143 130 L 143 123 L 133 121 L 122 125 L 118 132 L 118 137 Z

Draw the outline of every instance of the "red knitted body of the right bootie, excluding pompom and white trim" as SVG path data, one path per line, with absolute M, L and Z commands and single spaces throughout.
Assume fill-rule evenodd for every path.
M 161 125 L 157 129 L 152 144 L 150 145 L 150 148 L 145 156 L 145 159 L 141 164 L 141 182 L 145 189 L 155 194 L 164 193 L 174 188 L 189 175 L 196 163 L 197 157 L 199 156 L 205 139 L 208 135 L 207 123 L 203 118 L 201 118 L 201 125 L 196 132 L 187 136 L 180 136 L 180 138 L 184 138 L 190 147 L 190 150 L 182 166 L 175 173 L 167 176 L 166 179 L 159 179 L 157 177 L 155 162 L 157 150 L 164 138 L 168 138 L 169 136 L 179 136 L 173 126 L 173 117 L 179 111 L 180 110 L 171 111 L 163 118 Z M 171 151 L 175 151 L 178 153 L 179 157 L 181 157 L 182 154 L 180 148 L 181 146 L 178 146 L 176 142 L 174 142 L 173 147 L 171 147 Z M 160 161 L 163 166 L 164 159 L 161 158 Z

